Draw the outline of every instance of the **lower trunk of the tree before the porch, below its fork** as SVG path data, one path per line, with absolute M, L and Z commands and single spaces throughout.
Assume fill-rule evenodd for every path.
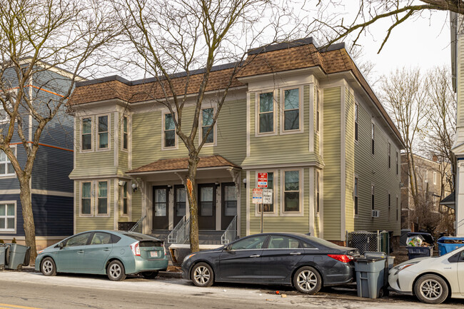
M 190 250 L 198 252 L 198 202 L 196 199 L 196 168 L 198 166 L 198 154 L 193 153 L 188 159 L 188 176 L 186 181 L 187 198 L 190 210 Z

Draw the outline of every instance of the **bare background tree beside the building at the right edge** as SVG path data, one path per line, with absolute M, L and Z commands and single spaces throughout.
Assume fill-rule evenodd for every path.
M 440 174 L 450 192 L 455 189 L 456 158 L 451 151 L 456 134 L 456 96 L 451 85 L 451 74 L 447 67 L 437 67 L 428 72 L 427 91 L 430 113 L 428 130 L 425 131 L 425 151 L 438 156 L 443 162 Z M 445 184 L 445 183 L 443 183 Z M 442 188 L 444 197 L 445 186 Z

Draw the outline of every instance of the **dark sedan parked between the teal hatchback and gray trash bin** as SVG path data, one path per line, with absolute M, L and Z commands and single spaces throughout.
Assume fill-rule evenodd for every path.
M 351 282 L 353 255 L 358 254 L 358 249 L 309 235 L 263 233 L 187 255 L 182 270 L 183 278 L 201 287 L 214 282 L 278 284 L 314 294 L 322 286 Z

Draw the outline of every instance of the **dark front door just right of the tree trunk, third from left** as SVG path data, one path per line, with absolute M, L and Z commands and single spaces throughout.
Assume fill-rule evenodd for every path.
M 216 185 L 198 185 L 198 229 L 216 230 Z

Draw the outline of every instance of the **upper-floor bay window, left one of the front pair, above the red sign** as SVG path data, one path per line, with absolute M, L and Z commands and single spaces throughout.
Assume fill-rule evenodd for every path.
M 256 135 L 276 134 L 275 91 L 256 93 Z

